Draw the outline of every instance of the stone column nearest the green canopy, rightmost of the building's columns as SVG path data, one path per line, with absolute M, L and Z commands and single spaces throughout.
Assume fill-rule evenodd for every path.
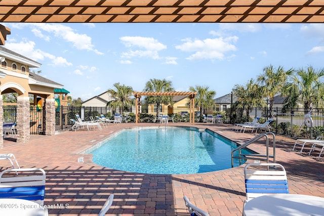
M 55 99 L 45 99 L 45 135 L 55 135 Z

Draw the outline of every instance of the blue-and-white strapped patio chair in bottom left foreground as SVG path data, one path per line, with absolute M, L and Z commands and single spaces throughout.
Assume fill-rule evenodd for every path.
M 10 172 L 19 172 L 13 176 Z M 26 199 L 44 204 L 46 174 L 41 168 L 6 169 L 0 174 L 0 198 Z

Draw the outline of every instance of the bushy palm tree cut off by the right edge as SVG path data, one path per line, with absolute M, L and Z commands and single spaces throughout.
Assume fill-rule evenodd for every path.
M 315 70 L 312 66 L 300 68 L 296 75 L 284 85 L 282 96 L 286 97 L 285 107 L 304 105 L 308 111 L 312 106 L 322 107 L 324 103 L 324 83 L 320 78 L 324 76 L 324 69 Z

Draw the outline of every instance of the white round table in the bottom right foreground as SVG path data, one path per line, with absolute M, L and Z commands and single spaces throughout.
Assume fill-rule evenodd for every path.
M 324 215 L 324 198 L 301 194 L 271 194 L 247 202 L 244 216 L 319 216 Z

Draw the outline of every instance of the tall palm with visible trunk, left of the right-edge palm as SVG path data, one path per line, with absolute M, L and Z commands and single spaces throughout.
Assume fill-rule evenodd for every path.
M 272 107 L 274 103 L 274 96 L 279 94 L 287 81 L 288 77 L 294 73 L 293 69 L 287 71 L 279 66 L 274 68 L 272 65 L 263 69 L 263 73 L 257 78 L 257 81 L 262 85 L 261 93 L 268 98 L 270 115 L 272 116 Z

